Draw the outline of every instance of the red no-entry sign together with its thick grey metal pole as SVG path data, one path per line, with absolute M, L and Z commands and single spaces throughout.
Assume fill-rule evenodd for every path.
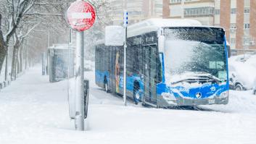
M 94 25 L 96 12 L 86 1 L 75 1 L 67 9 L 67 23 L 76 32 L 75 52 L 75 130 L 84 130 L 84 39 L 83 31 Z

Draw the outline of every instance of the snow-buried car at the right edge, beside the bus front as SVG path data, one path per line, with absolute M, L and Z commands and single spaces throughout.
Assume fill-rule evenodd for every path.
M 229 86 L 231 90 L 252 90 L 256 77 L 253 56 L 232 56 L 228 63 Z

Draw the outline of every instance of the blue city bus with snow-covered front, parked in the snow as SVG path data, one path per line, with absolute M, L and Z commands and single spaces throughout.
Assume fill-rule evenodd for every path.
M 222 27 L 150 19 L 128 27 L 127 97 L 155 106 L 227 104 L 228 50 Z M 96 45 L 96 85 L 123 95 L 123 46 Z

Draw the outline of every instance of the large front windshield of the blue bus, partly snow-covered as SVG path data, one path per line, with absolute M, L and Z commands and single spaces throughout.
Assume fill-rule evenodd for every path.
M 224 31 L 210 27 L 165 29 L 167 82 L 226 82 Z

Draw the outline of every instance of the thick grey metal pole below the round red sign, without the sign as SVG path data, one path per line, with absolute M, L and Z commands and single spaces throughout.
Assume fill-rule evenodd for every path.
M 84 100 L 83 100 L 83 72 L 84 72 L 84 49 L 83 32 L 76 32 L 76 51 L 75 51 L 75 130 L 84 130 Z

